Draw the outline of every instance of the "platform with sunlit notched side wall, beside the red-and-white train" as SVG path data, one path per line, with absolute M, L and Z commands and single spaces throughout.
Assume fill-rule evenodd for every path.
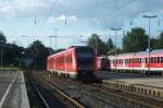
M 142 73 L 98 72 L 104 86 L 140 93 L 163 99 L 163 77 Z

